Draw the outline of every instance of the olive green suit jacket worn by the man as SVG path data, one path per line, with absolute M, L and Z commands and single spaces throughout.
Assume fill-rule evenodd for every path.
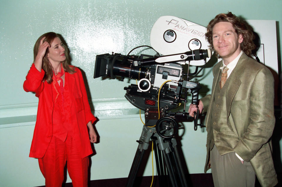
M 212 133 L 212 106 L 216 83 L 221 77 L 222 61 L 213 68 L 212 93 L 201 99 L 207 112 L 207 160 L 209 169 L 210 139 Z M 275 125 L 274 79 L 264 65 L 245 53 L 229 76 L 226 89 L 226 123 L 236 134 L 230 140 L 233 150 L 246 162 L 251 162 L 261 186 L 275 186 L 277 176 L 272 160 L 271 136 Z

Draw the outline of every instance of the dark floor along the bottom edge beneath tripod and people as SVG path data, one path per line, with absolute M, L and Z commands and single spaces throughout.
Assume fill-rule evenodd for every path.
M 278 173 L 278 181 L 280 181 L 281 173 Z M 154 176 L 154 181 L 152 187 L 170 187 L 169 182 L 167 178 L 160 178 L 158 176 Z M 161 181 L 161 184 L 160 184 Z M 125 186 L 127 182 L 127 178 L 113 178 L 113 179 L 103 179 L 103 180 L 95 180 L 90 181 L 88 183 L 89 187 L 120 187 Z M 137 177 L 135 180 L 134 187 L 149 187 L 152 182 L 152 176 L 145 176 L 145 177 Z M 194 187 L 214 187 L 214 183 L 212 181 L 212 174 L 211 173 L 199 173 L 199 174 L 190 174 L 187 177 L 187 183 L 188 186 L 194 186 Z M 276 187 L 280 187 L 281 181 L 276 185 Z M 44 187 L 44 186 L 38 186 L 38 187 Z M 71 183 L 65 183 L 63 184 L 63 187 L 72 187 Z M 255 187 L 261 187 L 259 182 L 256 180 Z

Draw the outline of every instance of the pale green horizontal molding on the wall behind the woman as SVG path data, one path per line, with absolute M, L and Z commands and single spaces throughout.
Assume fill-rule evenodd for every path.
M 92 99 L 89 103 L 99 120 L 140 117 L 139 109 L 124 97 Z M 0 128 L 35 125 L 37 106 L 38 102 L 1 105 Z

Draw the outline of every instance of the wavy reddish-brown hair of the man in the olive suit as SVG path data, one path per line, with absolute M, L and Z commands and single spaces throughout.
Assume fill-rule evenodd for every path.
M 243 50 L 247 55 L 252 53 L 252 50 L 256 48 L 253 40 L 255 38 L 253 32 L 249 29 L 248 25 L 241 21 L 237 16 L 228 12 L 227 14 L 218 14 L 212 19 L 207 26 L 207 33 L 205 34 L 207 41 L 209 42 L 209 48 L 214 51 L 214 46 L 212 44 L 212 29 L 215 24 L 219 22 L 230 22 L 235 29 L 235 32 L 239 35 L 242 34 L 243 42 L 240 44 L 241 50 Z M 215 51 L 216 52 L 216 51 Z M 216 53 L 216 56 L 220 56 Z

